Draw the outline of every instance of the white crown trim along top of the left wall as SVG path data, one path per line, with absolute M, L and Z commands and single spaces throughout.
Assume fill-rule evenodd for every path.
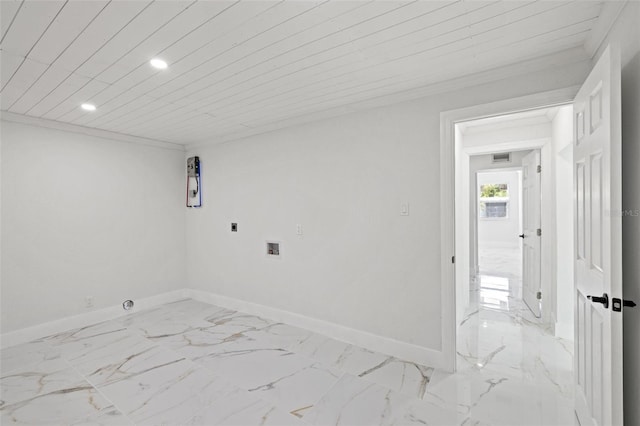
M 156 148 L 170 149 L 173 151 L 185 151 L 184 145 L 159 141 L 155 139 L 141 138 L 139 136 L 125 135 L 108 130 L 94 129 L 91 127 L 77 126 L 75 124 L 63 123 L 60 121 L 47 120 L 44 118 L 29 117 L 28 115 L 16 114 L 9 111 L 2 111 L 0 118 L 11 123 L 26 124 L 28 126 L 45 127 L 47 129 L 62 130 L 65 132 L 79 133 L 87 136 L 94 136 L 102 139 L 116 140 L 119 142 L 135 143 L 139 145 L 154 146 Z

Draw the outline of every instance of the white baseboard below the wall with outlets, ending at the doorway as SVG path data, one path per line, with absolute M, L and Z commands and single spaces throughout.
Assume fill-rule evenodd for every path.
M 221 296 L 202 290 L 187 289 L 186 295 L 189 298 L 200 302 L 210 303 L 223 308 L 261 316 L 277 322 L 283 322 L 311 330 L 316 333 L 324 334 L 352 345 L 395 356 L 403 360 L 436 368 L 446 367 L 442 352 L 433 349 L 401 342 L 389 337 L 356 330 L 332 322 L 296 314 L 294 312 L 284 311 L 257 303 L 246 302 L 240 299 Z

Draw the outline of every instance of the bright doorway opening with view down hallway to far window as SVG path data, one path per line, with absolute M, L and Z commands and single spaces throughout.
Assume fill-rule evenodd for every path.
M 556 198 L 571 198 L 571 162 L 561 155 L 572 143 L 571 108 L 554 105 L 453 126 L 455 253 L 461 260 L 455 264 L 456 369 L 479 382 L 498 376 L 548 386 L 566 404 L 555 409 L 568 423 L 573 316 L 560 327 L 558 313 L 573 307 L 573 278 L 567 278 L 571 261 L 559 260 L 558 236 L 566 230 L 557 227 L 571 222 L 572 210 L 570 201 L 569 208 L 557 208 Z M 564 167 L 568 181 L 560 188 L 557 172 Z

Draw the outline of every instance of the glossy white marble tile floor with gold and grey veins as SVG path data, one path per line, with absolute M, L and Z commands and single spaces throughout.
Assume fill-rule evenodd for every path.
M 516 311 L 461 331 L 447 374 L 183 300 L 3 348 L 0 424 L 573 424 L 570 346 Z

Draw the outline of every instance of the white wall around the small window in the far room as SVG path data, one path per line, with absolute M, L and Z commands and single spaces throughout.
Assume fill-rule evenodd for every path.
M 509 204 L 505 218 L 478 218 L 478 246 L 519 249 L 520 239 L 520 176 L 517 171 L 478 173 L 476 193 L 482 185 L 506 183 Z

